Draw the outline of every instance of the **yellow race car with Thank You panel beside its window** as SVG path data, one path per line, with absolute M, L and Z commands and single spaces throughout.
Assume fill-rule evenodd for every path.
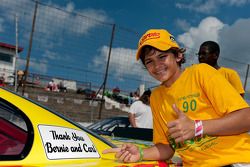
M 80 124 L 27 98 L 0 88 L 0 166 L 113 166 L 157 167 L 166 162 L 124 164 L 114 154 L 116 147 Z

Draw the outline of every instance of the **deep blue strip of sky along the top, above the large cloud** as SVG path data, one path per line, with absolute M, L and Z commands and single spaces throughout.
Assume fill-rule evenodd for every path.
M 43 1 L 42 1 L 43 2 Z M 44 1 L 45 2 L 45 1 Z M 75 10 L 102 11 L 111 23 L 144 32 L 149 28 L 166 28 L 178 35 L 214 16 L 225 24 L 249 18 L 248 0 L 50 0 Z

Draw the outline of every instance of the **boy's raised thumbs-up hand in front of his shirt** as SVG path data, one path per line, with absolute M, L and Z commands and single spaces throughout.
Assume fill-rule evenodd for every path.
M 192 139 L 195 137 L 195 124 L 179 110 L 175 104 L 173 104 L 173 109 L 176 112 L 178 118 L 174 121 L 170 121 L 167 124 L 168 132 L 170 136 L 175 139 L 176 143 L 184 142 L 185 140 Z

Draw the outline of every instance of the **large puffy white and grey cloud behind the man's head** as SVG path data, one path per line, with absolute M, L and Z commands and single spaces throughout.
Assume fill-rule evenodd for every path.
M 235 69 L 245 80 L 247 64 L 250 64 L 250 18 L 238 19 L 227 25 L 215 17 L 204 18 L 197 27 L 177 37 L 177 41 L 187 47 L 187 64 L 197 63 L 194 53 L 204 41 L 212 40 L 221 48 L 219 65 Z M 248 79 L 250 89 L 250 80 Z

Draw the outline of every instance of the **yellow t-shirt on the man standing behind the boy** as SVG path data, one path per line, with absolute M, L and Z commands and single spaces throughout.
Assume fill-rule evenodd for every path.
M 240 77 L 236 71 L 230 68 L 220 67 L 218 71 L 231 83 L 231 85 L 240 93 L 245 93 Z

